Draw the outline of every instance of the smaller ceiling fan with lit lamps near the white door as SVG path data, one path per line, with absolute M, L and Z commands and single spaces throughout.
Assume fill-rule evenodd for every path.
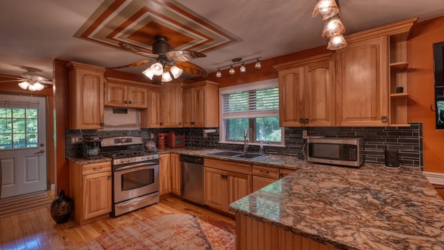
M 3 80 L 0 83 L 18 82 L 19 87 L 24 90 L 38 91 L 48 88 L 48 85 L 52 85 L 53 82 L 37 74 L 38 69 L 32 67 L 22 67 L 26 69 L 26 72 L 22 74 L 22 77 L 8 76 L 0 74 L 3 78 L 12 78 L 11 80 Z

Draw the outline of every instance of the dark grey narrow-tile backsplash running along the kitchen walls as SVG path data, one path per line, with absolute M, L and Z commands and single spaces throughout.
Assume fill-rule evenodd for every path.
M 137 131 L 96 131 L 96 130 L 66 130 L 66 156 L 81 156 L 82 144 L 71 144 L 70 138 L 78 135 L 97 134 L 101 138 L 116 136 L 141 136 L 144 142 L 155 141 L 156 133 L 175 131 L 178 134 L 185 133 L 187 147 L 205 149 L 223 149 L 242 151 L 243 144 L 219 143 L 219 128 L 215 133 L 203 135 L 204 128 L 142 128 Z M 205 128 L 208 129 L 208 128 Z M 366 163 L 384 163 L 384 149 L 398 149 L 401 165 L 423 167 L 422 150 L 422 123 L 413 122 L 406 127 L 322 127 L 322 128 L 285 128 L 284 147 L 270 147 L 265 144 L 265 153 L 273 153 L 287 156 L 302 156 L 302 148 L 305 140 L 302 139 L 302 131 L 307 130 L 309 135 L 325 135 L 341 138 L 364 138 L 364 160 Z M 259 146 L 250 145 L 249 151 L 258 152 Z

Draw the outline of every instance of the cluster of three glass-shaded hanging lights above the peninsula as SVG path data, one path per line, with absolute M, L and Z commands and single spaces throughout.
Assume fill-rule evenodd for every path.
M 347 46 L 343 37 L 345 26 L 339 19 L 338 0 L 318 0 L 313 10 L 313 17 L 321 14 L 321 19 L 327 20 L 322 32 L 323 38 L 329 39 L 327 49 L 336 50 Z

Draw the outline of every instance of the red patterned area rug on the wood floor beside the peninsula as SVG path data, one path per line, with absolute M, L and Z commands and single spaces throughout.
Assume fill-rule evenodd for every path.
M 86 249 L 235 249 L 234 226 L 211 217 L 162 215 L 104 233 Z

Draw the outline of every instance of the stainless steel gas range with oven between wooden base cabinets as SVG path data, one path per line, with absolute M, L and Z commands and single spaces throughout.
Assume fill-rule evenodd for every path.
M 159 202 L 159 154 L 142 138 L 104 138 L 100 152 L 112 158 L 112 217 Z

